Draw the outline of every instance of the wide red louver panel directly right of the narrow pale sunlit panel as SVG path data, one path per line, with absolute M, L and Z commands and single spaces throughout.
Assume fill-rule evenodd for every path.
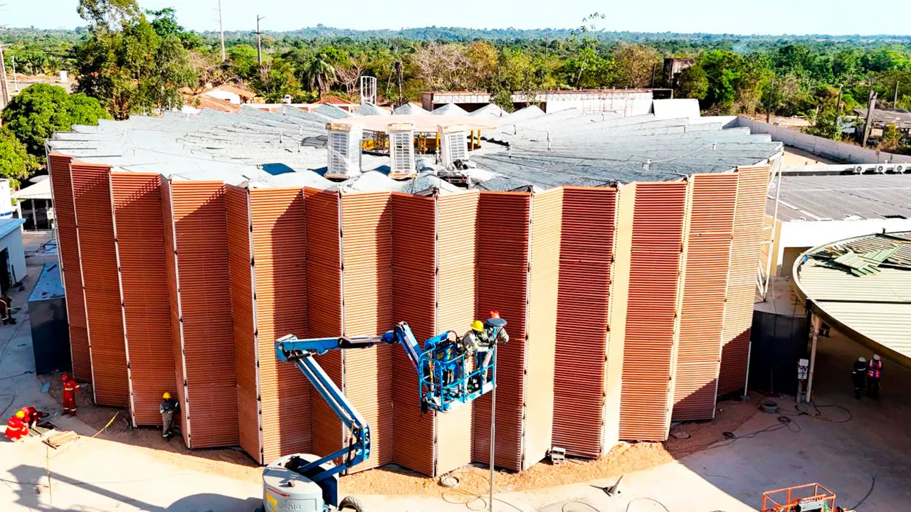
M 617 191 L 566 188 L 560 226 L 553 445 L 598 457 Z M 578 371 L 586 368 L 585 372 Z M 616 421 L 616 418 L 615 418 Z

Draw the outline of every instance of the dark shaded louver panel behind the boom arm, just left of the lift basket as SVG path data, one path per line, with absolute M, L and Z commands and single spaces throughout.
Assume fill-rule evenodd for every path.
M 435 334 L 436 200 L 394 193 L 392 209 L 393 322 L 407 322 L 421 343 Z M 434 413 L 421 413 L 415 368 L 401 346 L 391 348 L 394 462 L 435 476 Z

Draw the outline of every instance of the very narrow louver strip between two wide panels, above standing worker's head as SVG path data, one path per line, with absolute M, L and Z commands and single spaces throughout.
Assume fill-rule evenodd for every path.
M 174 360 L 174 387 L 180 402 L 180 435 L 184 444 L 189 443 L 189 421 L 187 414 L 186 380 L 184 379 L 183 358 L 183 325 L 180 323 L 180 296 L 178 292 L 177 241 L 174 234 L 174 215 L 171 204 L 171 184 L 169 179 L 161 179 L 161 225 L 165 235 L 165 277 L 168 281 L 168 304 L 170 311 L 171 356 Z

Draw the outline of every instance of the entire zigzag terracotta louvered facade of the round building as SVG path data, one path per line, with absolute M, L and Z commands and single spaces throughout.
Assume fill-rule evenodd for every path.
M 160 394 L 176 391 L 192 448 L 241 445 L 265 464 L 347 442 L 275 359 L 284 334 L 406 321 L 421 341 L 491 310 L 511 338 L 498 349 L 497 466 L 527 469 L 553 445 L 597 457 L 618 439 L 660 441 L 671 417 L 711 418 L 716 386 L 742 387 L 767 168 L 422 195 L 50 165 L 74 365 L 136 425 L 157 425 Z M 371 427 L 354 470 L 437 476 L 488 461 L 489 395 L 422 414 L 400 346 L 317 361 Z

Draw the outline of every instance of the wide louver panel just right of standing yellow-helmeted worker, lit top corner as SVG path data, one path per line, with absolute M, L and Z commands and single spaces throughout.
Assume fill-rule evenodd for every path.
M 240 442 L 223 184 L 172 181 L 189 446 Z

